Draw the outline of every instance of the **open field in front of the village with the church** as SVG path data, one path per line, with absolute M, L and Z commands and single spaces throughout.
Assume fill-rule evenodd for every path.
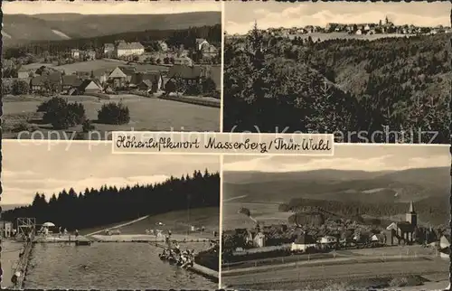
M 368 253 L 369 251 L 372 254 Z M 380 254 L 377 254 L 378 252 Z M 387 257 L 382 257 L 382 253 Z M 254 270 L 226 270 L 222 274 L 222 281 L 226 286 L 239 288 L 298 289 L 304 286 L 314 289 L 325 287 L 325 282 L 332 281 L 361 280 L 364 281 L 361 284 L 370 286 L 372 283 L 369 279 L 374 278 L 391 280 L 394 277 L 427 275 L 444 277 L 448 274 L 447 270 L 447 260 L 434 257 L 430 249 L 422 249 L 419 246 L 391 247 L 337 251 L 336 258 L 262 266 Z

